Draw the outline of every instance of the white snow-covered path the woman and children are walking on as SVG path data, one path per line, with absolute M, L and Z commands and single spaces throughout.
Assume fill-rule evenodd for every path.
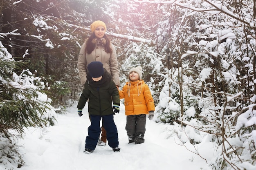
M 87 106 L 87 105 L 86 105 Z M 124 108 L 114 117 L 119 134 L 121 152 L 107 146 L 97 146 L 90 155 L 84 154 L 85 137 L 90 124 L 87 108 L 83 116 L 75 107 L 58 115 L 56 126 L 44 132 L 35 128 L 19 144 L 26 162 L 19 170 L 200 170 L 206 162 L 168 137 L 168 125 L 146 122 L 145 143 L 128 144 Z M 177 139 L 176 139 L 177 141 Z M 203 155 L 206 156 L 207 155 Z

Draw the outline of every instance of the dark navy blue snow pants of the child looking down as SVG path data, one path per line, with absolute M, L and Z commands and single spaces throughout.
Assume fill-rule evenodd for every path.
M 113 115 L 90 115 L 91 125 L 88 127 L 88 136 L 85 139 L 85 148 L 94 150 L 96 148 L 99 135 L 101 133 L 100 121 L 101 118 L 104 122 L 104 128 L 107 131 L 108 145 L 111 148 L 116 148 L 119 145 L 117 126 L 114 122 Z

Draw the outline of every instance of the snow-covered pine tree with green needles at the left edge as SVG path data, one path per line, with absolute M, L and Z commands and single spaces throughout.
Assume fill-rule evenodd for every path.
M 28 69 L 17 75 L 14 69 L 20 69 L 20 64 L 0 42 L 0 162 L 14 161 L 17 167 L 24 162 L 15 137 L 22 136 L 24 128 L 55 123 L 51 99 L 42 90 L 44 83 Z

